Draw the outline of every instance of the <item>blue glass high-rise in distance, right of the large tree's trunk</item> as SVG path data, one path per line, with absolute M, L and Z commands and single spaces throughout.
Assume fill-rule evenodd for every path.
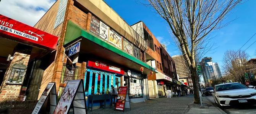
M 204 57 L 200 62 L 204 82 L 208 79 L 219 79 L 222 77 L 218 63 L 212 62 L 212 57 Z

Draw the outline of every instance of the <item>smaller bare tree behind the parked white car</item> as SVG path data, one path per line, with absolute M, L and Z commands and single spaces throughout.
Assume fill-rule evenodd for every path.
M 224 71 L 233 81 L 241 82 L 245 84 L 246 78 L 245 73 L 248 66 L 246 66 L 246 61 L 249 55 L 245 51 L 226 51 L 224 53 Z

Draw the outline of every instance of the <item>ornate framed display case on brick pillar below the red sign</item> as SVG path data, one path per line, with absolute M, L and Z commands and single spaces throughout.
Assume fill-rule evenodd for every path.
M 26 65 L 23 63 L 14 63 L 6 84 L 22 84 L 26 73 Z

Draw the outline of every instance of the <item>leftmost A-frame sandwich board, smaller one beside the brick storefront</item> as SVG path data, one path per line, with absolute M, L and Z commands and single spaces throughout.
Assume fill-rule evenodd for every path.
M 48 99 L 50 99 L 50 100 L 48 100 Z M 42 111 L 46 111 L 46 109 L 42 109 L 42 107 L 45 104 L 45 101 L 46 102 L 50 101 L 50 111 L 49 111 L 50 113 L 49 114 L 52 114 L 57 105 L 55 82 L 50 82 L 47 84 L 46 88 L 44 89 L 44 92 L 42 93 L 39 101 L 37 102 L 37 104 L 31 114 L 44 113 Z M 44 108 L 46 108 L 46 107 L 44 107 Z

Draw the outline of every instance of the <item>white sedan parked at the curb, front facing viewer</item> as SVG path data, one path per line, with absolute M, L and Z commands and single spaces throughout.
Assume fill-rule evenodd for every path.
M 256 90 L 237 82 L 214 86 L 212 97 L 219 107 L 256 104 Z

